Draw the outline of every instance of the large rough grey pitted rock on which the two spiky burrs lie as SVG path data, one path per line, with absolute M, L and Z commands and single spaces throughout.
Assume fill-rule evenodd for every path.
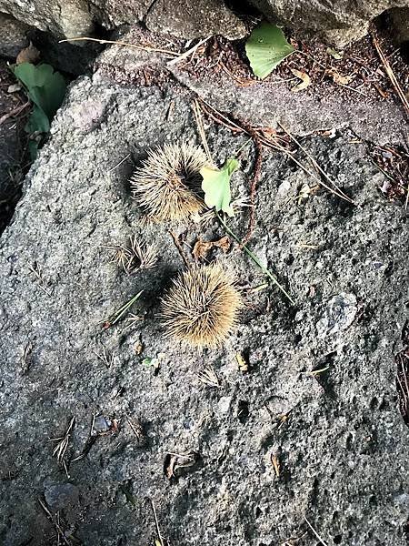
M 266 150 L 250 246 L 295 306 L 274 286 L 248 293 L 265 278 L 236 249 L 220 259 L 244 288 L 240 327 L 222 349 L 180 348 L 165 339 L 157 312 L 184 264 L 169 226 L 145 222 L 128 180 L 149 147 L 200 143 L 195 95 L 160 65 L 145 76 L 127 66 L 124 75 L 123 61 L 115 48 L 94 76 L 71 86 L 0 238 L 1 543 L 55 543 L 37 499 L 45 483 L 67 481 L 49 439 L 64 437 L 75 417 L 65 461 L 78 504 L 62 507 L 59 523 L 84 544 L 154 543 L 152 501 L 172 544 L 308 546 L 316 538 L 306 517 L 328 544 L 401 546 L 409 430 L 397 409 L 394 352 L 407 315 L 404 207 L 380 195 L 384 175 L 347 124 L 303 145 L 355 207 L 324 189 L 301 198 L 315 180 Z M 205 131 L 219 165 L 242 149 L 233 192 L 244 197 L 253 147 L 211 121 Z M 244 209 L 231 227 L 244 234 L 247 219 Z M 173 229 L 185 234 L 186 252 L 199 234 L 224 235 L 214 221 Z M 105 248 L 130 235 L 160 248 L 157 267 L 135 277 Z M 142 320 L 103 330 L 141 289 L 132 311 Z M 356 300 L 358 312 L 321 339 L 316 324 L 340 294 Z M 158 372 L 142 364 L 159 353 Z M 199 379 L 206 367 L 218 388 Z M 311 373 L 317 369 L 327 372 Z M 118 420 L 118 428 L 93 436 L 95 416 Z M 166 454 L 192 451 L 201 464 L 165 478 Z

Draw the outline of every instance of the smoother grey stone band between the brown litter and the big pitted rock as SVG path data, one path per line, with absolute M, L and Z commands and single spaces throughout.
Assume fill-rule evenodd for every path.
M 144 43 L 146 35 L 132 28 L 121 39 L 139 44 Z M 245 86 L 221 70 L 209 68 L 197 75 L 183 63 L 169 65 L 164 56 L 116 45 L 98 57 L 96 66 L 99 73 L 128 85 L 138 85 L 152 77 L 164 81 L 175 78 L 219 111 L 253 126 L 279 128 L 281 124 L 302 136 L 350 128 L 363 140 L 380 146 L 401 145 L 408 136 L 403 108 L 392 101 L 363 100 L 359 94 L 344 99 L 337 90 L 327 96 L 316 96 L 314 92 L 297 94 L 280 79 Z

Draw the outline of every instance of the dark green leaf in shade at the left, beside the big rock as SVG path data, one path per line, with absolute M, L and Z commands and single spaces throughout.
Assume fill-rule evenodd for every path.
M 64 76 L 55 72 L 51 65 L 22 63 L 15 66 L 15 77 L 25 86 L 30 99 L 42 108 L 51 121 L 64 100 Z

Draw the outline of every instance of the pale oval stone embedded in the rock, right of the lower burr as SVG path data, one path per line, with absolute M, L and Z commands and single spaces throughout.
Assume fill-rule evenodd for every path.
M 333 336 L 351 326 L 357 311 L 356 297 L 354 294 L 341 292 L 330 299 L 324 316 L 317 322 L 319 338 Z

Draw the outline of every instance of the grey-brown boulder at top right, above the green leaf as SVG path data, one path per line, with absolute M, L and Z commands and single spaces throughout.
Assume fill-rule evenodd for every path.
M 409 5 L 408 0 L 251 0 L 274 22 L 312 31 L 334 45 L 361 38 L 369 23 L 384 11 Z

